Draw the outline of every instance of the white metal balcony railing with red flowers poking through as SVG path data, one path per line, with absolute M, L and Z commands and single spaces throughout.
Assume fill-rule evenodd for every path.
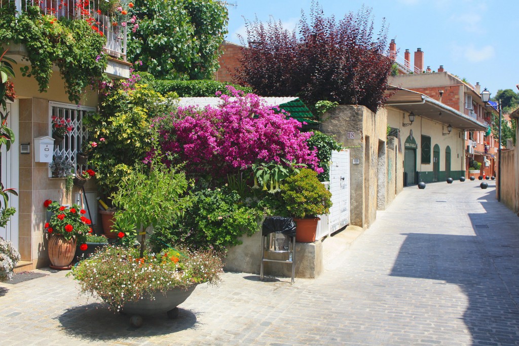
M 126 61 L 127 27 L 114 25 L 116 18 L 100 13 L 99 3 L 103 0 L 8 0 L 14 2 L 18 13 L 27 11 L 28 6 L 39 6 L 44 15 L 57 19 L 89 19 L 90 25 L 97 27 L 106 37 L 105 52 L 117 59 Z M 0 2 L 0 7 L 4 2 Z

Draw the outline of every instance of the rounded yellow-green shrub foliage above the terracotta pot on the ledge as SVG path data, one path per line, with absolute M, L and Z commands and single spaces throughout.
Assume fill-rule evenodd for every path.
M 295 218 L 327 214 L 332 206 L 332 193 L 319 182 L 317 173 L 307 168 L 284 180 L 281 197 L 288 214 Z

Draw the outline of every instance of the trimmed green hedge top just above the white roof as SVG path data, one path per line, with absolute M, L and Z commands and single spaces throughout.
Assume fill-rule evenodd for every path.
M 251 88 L 245 88 L 238 85 L 219 82 L 216 80 L 201 79 L 201 80 L 159 80 L 153 81 L 153 88 L 166 95 L 169 92 L 176 92 L 181 98 L 199 98 L 214 96 L 217 91 L 224 94 L 229 94 L 225 86 L 231 85 L 236 90 L 241 90 L 245 93 L 252 92 Z

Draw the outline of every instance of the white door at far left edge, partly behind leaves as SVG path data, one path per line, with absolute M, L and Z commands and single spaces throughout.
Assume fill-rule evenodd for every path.
M 18 100 L 14 103 L 7 104 L 7 111 L 9 116 L 7 118 L 7 127 L 15 133 L 15 143 L 11 149 L 6 152 L 5 145 L 2 146 L 0 156 L 2 157 L 0 172 L 2 184 L 4 188 L 13 188 L 19 191 L 18 186 L 18 153 L 20 151 L 20 143 L 18 142 Z M 11 216 L 10 221 L 5 228 L 0 228 L 0 237 L 9 240 L 18 250 L 18 197 L 9 194 L 9 206 L 16 208 L 17 212 Z

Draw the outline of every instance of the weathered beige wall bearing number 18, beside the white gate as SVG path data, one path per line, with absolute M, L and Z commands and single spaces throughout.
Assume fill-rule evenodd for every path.
M 350 225 L 369 227 L 387 203 L 386 110 L 340 105 L 323 115 L 320 130 L 350 149 Z

